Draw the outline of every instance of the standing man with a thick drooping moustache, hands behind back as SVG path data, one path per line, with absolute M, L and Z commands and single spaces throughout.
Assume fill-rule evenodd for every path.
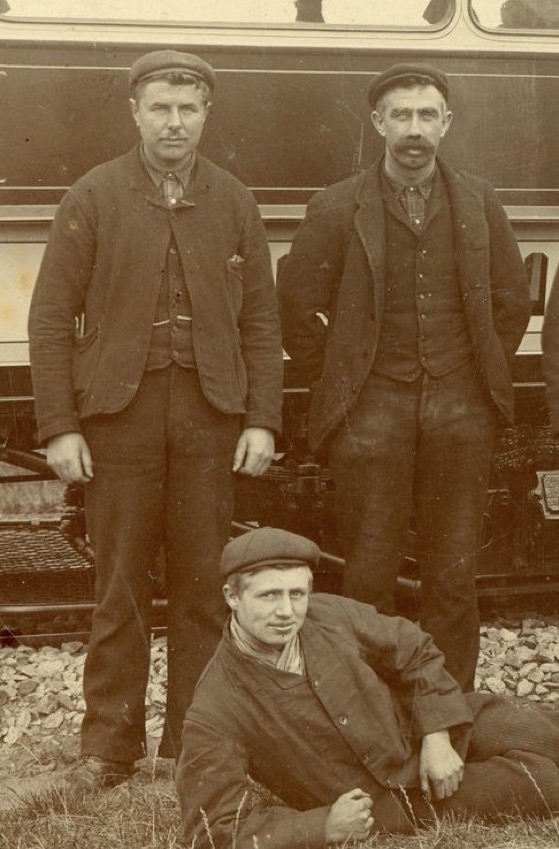
M 428 65 L 373 79 L 384 156 L 311 200 L 279 296 L 285 348 L 312 387 L 311 449 L 336 484 L 344 594 L 394 611 L 413 519 L 421 624 L 471 690 L 493 437 L 512 420 L 529 295 L 494 190 L 437 157 L 447 99 Z

